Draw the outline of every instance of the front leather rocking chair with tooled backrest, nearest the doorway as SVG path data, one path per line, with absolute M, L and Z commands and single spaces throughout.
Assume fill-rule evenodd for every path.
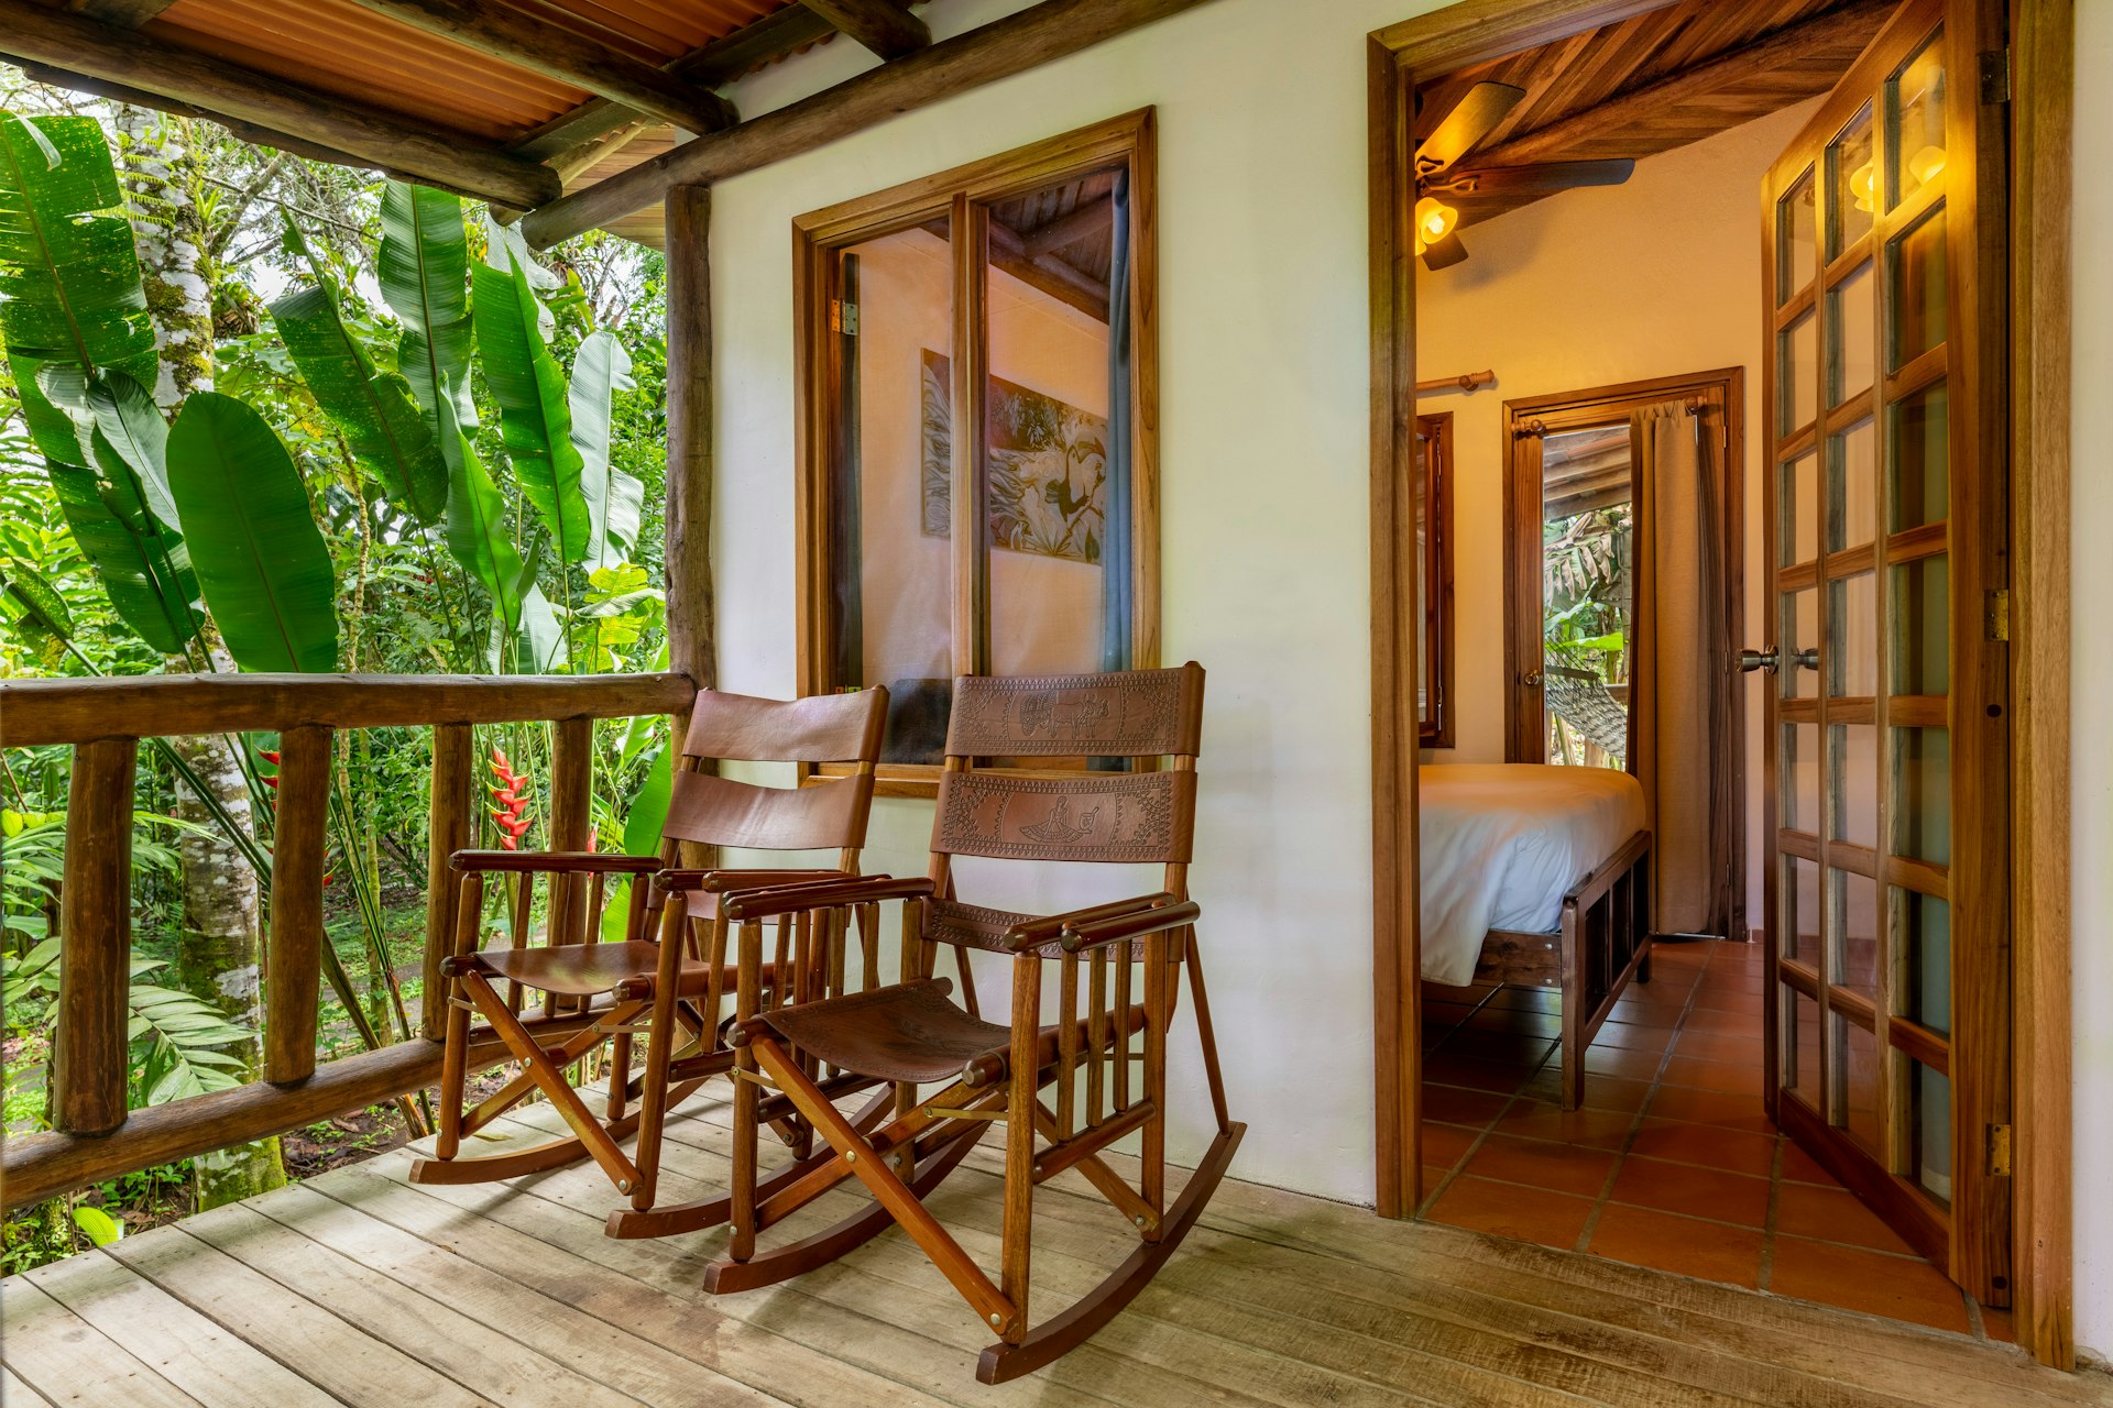
M 881 899 L 902 897 L 904 950 L 896 986 L 773 1007 L 735 1024 L 731 1243 L 729 1256 L 706 1269 L 708 1290 L 782 1281 L 900 1222 L 978 1319 L 997 1332 L 999 1343 L 983 1351 L 976 1376 L 1002 1383 L 1084 1343 L 1158 1273 L 1223 1178 L 1247 1129 L 1226 1115 L 1196 946 L 1198 906 L 1185 897 L 1200 720 L 1202 667 L 1194 663 L 1109 676 L 957 680 L 930 880 L 845 880 L 725 901 L 723 912 L 744 929 L 803 914 L 820 931 L 828 925 L 822 914 L 828 908 L 877 910 Z M 1056 756 L 1171 756 L 1173 766 L 1069 775 L 976 766 L 978 758 Z M 1156 861 L 1164 865 L 1164 880 L 1152 895 L 1033 918 L 957 901 L 955 855 Z M 955 948 L 966 1007 L 949 1001 L 947 979 L 932 975 L 940 944 Z M 1012 958 L 1008 1024 L 976 1013 L 968 975 L 972 948 Z M 1044 1022 L 1044 967 L 1050 963 L 1059 969 L 1059 1001 L 1054 1022 Z M 1141 969 L 1141 994 L 1133 988 L 1135 969 Z M 1168 1207 L 1166 1034 L 1183 971 L 1217 1138 Z M 835 1081 L 820 1081 L 820 1070 L 837 1072 L 835 1081 L 894 1083 L 894 1119 L 881 1125 L 881 1110 L 871 1106 L 847 1119 L 833 1104 Z M 942 1089 L 919 1100 L 923 1085 Z M 780 1108 L 803 1115 L 830 1153 L 759 1186 L 761 1127 Z M 997 1281 L 921 1201 L 993 1119 L 1006 1121 Z M 1101 1159 L 1128 1134 L 1139 1134 L 1143 1153 L 1135 1188 Z M 1084 1174 L 1137 1229 L 1141 1245 L 1073 1307 L 1031 1324 L 1033 1188 L 1065 1169 Z M 864 1212 L 790 1245 L 756 1252 L 759 1231 L 849 1178 L 873 1193 Z

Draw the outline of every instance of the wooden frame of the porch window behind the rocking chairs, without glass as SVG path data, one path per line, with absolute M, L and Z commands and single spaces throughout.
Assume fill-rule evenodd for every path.
M 951 217 L 955 249 L 953 287 L 953 673 L 989 671 L 989 555 L 983 538 L 985 386 L 989 346 L 985 310 L 989 289 L 989 211 L 1016 196 L 1067 177 L 1122 165 L 1128 171 L 1130 255 L 1130 665 L 1160 663 L 1160 477 L 1158 477 L 1158 247 L 1156 247 L 1156 120 L 1139 108 L 1092 127 L 987 156 L 936 175 L 858 196 L 792 222 L 794 312 L 794 562 L 797 562 L 797 671 L 801 695 L 837 688 L 830 678 L 833 606 L 830 530 L 835 524 L 830 469 L 839 443 L 835 359 L 828 355 L 833 262 L 839 251 L 885 234 Z M 839 768 L 803 764 L 801 781 Z M 938 764 L 881 764 L 877 796 L 938 794 Z

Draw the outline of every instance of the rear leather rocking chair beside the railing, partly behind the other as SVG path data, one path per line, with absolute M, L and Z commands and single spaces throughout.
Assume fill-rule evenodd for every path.
M 797 889 L 856 876 L 885 718 L 887 690 L 879 688 L 792 703 L 702 690 L 682 743 L 682 766 L 674 773 L 657 857 L 459 851 L 452 857 L 461 876 L 454 944 L 442 963 L 452 992 L 440 1131 L 433 1155 L 412 1163 L 412 1182 L 488 1182 L 592 1157 L 617 1193 L 630 1195 L 630 1207 L 609 1216 L 613 1237 L 659 1237 L 725 1220 L 725 1197 L 655 1207 L 661 1123 L 704 1081 L 731 1070 L 733 1053 L 721 1041 L 721 1007 L 727 996 L 735 998 L 740 1015 L 752 1015 L 792 994 L 805 998 L 830 990 L 828 975 L 811 973 L 811 965 L 788 963 L 784 952 L 771 965 L 744 952 L 742 963 L 729 967 L 725 901 L 744 889 Z M 756 787 L 699 770 L 704 760 L 714 758 L 854 762 L 858 770 L 816 787 Z M 680 842 L 761 851 L 835 849 L 837 868 L 666 870 L 678 859 Z M 543 946 L 528 944 L 537 874 L 551 876 Z M 596 941 L 611 874 L 651 878 L 651 889 L 632 889 L 621 944 Z M 518 876 L 509 948 L 480 948 L 488 876 Z M 647 937 L 655 931 L 659 941 Z M 752 933 L 750 941 L 761 944 L 761 933 Z M 505 996 L 501 982 L 509 986 Z M 539 1017 L 522 1011 L 522 994 L 530 990 L 543 994 Z M 488 1036 L 471 1030 L 473 1017 L 482 1017 L 490 1034 L 505 1043 L 522 1072 L 465 1110 L 467 1051 Z M 634 1074 L 632 1043 L 640 1032 L 647 1039 L 647 1062 L 644 1072 Z M 606 1115 L 596 1117 L 566 1079 L 566 1068 L 602 1043 L 609 1043 L 609 1096 Z M 573 1138 L 463 1157 L 465 1138 L 537 1089 L 564 1117 Z M 638 1134 L 638 1146 L 625 1155 L 621 1140 L 632 1131 Z M 794 1125 L 786 1125 L 786 1134 L 794 1142 L 811 1140 Z

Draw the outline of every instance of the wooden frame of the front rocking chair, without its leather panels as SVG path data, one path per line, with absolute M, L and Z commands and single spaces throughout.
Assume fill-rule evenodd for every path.
M 1156 680 L 1154 680 L 1156 678 Z M 1143 682 L 1158 688 L 1179 688 L 1192 718 L 1177 728 L 1164 756 L 1171 773 L 1143 775 L 1173 815 L 1171 849 L 1164 861 L 1162 889 L 1116 903 L 1101 903 L 1056 916 L 1016 916 L 972 910 L 955 901 L 953 855 L 1010 855 L 1014 859 L 1143 859 L 1135 855 L 1065 853 L 1063 842 L 1021 846 L 1016 840 L 978 849 L 964 844 L 964 827 L 974 830 L 978 811 L 970 779 L 1004 779 L 997 787 L 1027 785 L 1056 794 L 1056 811 L 1044 808 L 1044 821 L 1018 825 L 1033 836 L 1048 834 L 1048 817 L 1067 817 L 1071 796 L 1107 796 L 1107 773 L 1052 773 L 976 768 L 978 756 L 1050 756 L 1063 751 L 1054 741 L 1023 747 L 1018 737 L 974 737 L 978 724 L 964 718 L 976 713 L 976 701 L 999 688 L 1031 699 L 1035 686 L 1046 686 L 1042 716 L 1061 713 L 1067 695 L 1124 688 L 1107 682 Z M 1056 703 L 1050 705 L 1048 701 Z M 1196 941 L 1198 906 L 1188 899 L 1188 849 L 1194 832 L 1194 764 L 1196 722 L 1202 701 L 1202 669 L 1185 665 L 1179 671 L 1133 671 L 1128 676 L 1082 676 L 1054 682 L 1037 680 L 959 680 L 955 686 L 955 720 L 949 756 L 942 770 L 940 811 L 934 823 L 932 872 L 925 880 L 847 880 L 805 891 L 754 891 L 727 901 L 735 922 L 761 925 L 767 918 L 805 914 L 809 927 L 824 927 L 824 914 L 862 910 L 871 918 L 881 901 L 902 899 L 902 982 L 856 998 L 835 998 L 814 1005 L 782 1007 L 744 1020 L 733 1030 L 737 1055 L 735 1121 L 733 1121 L 733 1210 L 731 1241 L 723 1260 L 706 1269 L 706 1290 L 737 1292 L 771 1286 L 820 1267 L 873 1239 L 890 1224 L 900 1224 L 932 1258 L 953 1288 L 970 1302 L 976 1317 L 997 1332 L 997 1343 L 983 1351 L 976 1376 L 983 1383 L 1004 1383 L 1056 1359 L 1084 1343 L 1126 1307 L 1194 1226 L 1211 1193 L 1226 1176 L 1245 1125 L 1234 1123 L 1226 1108 L 1223 1077 L 1211 1030 L 1211 1007 L 1202 984 L 1200 948 Z M 972 735 L 964 739 L 964 735 Z M 1103 749 L 1071 749 L 1101 756 Z M 1120 756 L 1120 747 L 1105 749 Z M 1128 756 L 1145 756 L 1130 751 Z M 1118 775 L 1120 777 L 1120 775 Z M 1130 775 L 1124 781 L 1133 781 Z M 993 794 L 1002 796 L 1002 794 Z M 997 832 L 1004 834 L 999 802 Z M 1103 802 L 1107 804 L 1107 802 Z M 964 821 L 968 819 L 968 821 Z M 1111 834 L 1122 823 L 1111 823 Z M 828 1068 L 830 1043 L 807 1032 L 826 1032 L 830 1022 L 858 1007 L 906 1009 L 906 1005 L 938 1005 L 951 984 L 934 977 L 940 946 L 951 946 L 961 975 L 964 1009 L 951 1009 L 953 1020 L 970 1028 L 999 1032 L 989 1049 L 968 1058 L 955 1079 L 930 1081 L 938 1093 L 919 1098 L 919 1081 L 894 1081 L 894 1119 L 881 1123 L 883 1102 L 873 1102 L 856 1117 L 837 1110 L 841 1098 L 818 1066 Z M 968 971 L 968 950 L 1006 954 L 1012 960 L 1010 1024 L 985 1026 L 976 1017 L 976 988 Z M 748 948 L 744 946 L 744 952 Z M 1042 1022 L 1046 967 L 1059 969 L 1059 1011 L 1054 1024 Z M 1143 969 L 1141 994 L 1133 994 L 1133 971 Z M 1211 1089 L 1217 1136 L 1181 1195 L 1166 1201 L 1166 1034 L 1177 1007 L 1181 973 L 1188 971 L 1196 1026 L 1202 1041 L 1204 1074 Z M 898 1028 L 902 1039 L 915 1036 Z M 803 1049 L 803 1043 L 805 1049 Z M 843 1053 L 843 1047 L 837 1047 Z M 1133 1062 L 1141 1072 L 1133 1079 Z M 856 1068 L 852 1070 L 856 1074 Z M 871 1079 L 871 1077 L 868 1077 Z M 1084 1085 L 1084 1091 L 1080 1091 Z M 1044 1091 L 1054 1087 L 1054 1100 Z M 759 1184 L 761 1129 L 771 1110 L 790 1108 L 803 1115 L 828 1144 L 811 1157 Z M 923 1205 L 953 1167 L 978 1142 L 989 1123 L 1006 1125 L 1006 1193 L 1002 1269 L 993 1281 L 968 1252 L 947 1233 Z M 1124 1136 L 1141 1138 L 1141 1174 L 1130 1186 L 1103 1159 Z M 1141 1245 L 1092 1292 L 1063 1313 L 1031 1324 L 1029 1262 L 1033 1188 L 1067 1169 L 1080 1172 L 1137 1229 Z M 767 1252 L 756 1250 L 756 1235 L 809 1205 L 824 1193 L 860 1180 L 873 1195 L 864 1210 L 820 1233 Z

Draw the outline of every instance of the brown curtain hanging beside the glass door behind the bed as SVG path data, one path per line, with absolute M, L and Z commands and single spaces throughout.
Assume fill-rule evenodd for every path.
M 1722 407 L 1652 405 L 1631 422 L 1635 597 L 1629 770 L 1654 844 L 1652 927 L 1724 935 L 1733 768 Z

